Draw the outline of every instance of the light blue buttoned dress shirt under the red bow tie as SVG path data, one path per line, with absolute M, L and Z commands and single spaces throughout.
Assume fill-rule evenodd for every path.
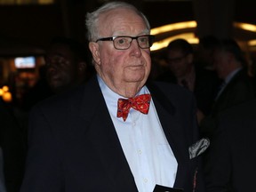
M 153 100 L 148 115 L 131 108 L 124 122 L 122 117 L 116 117 L 117 100 L 124 97 L 112 92 L 99 76 L 98 80 L 138 190 L 152 192 L 156 184 L 172 188 L 178 164 L 165 138 Z M 145 93 L 149 91 L 144 86 L 138 95 Z

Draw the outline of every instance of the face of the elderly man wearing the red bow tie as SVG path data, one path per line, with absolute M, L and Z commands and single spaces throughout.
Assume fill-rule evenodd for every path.
M 107 12 L 101 15 L 99 23 L 100 38 L 148 35 L 144 20 L 130 10 Z M 151 68 L 150 51 L 141 49 L 135 39 L 127 50 L 116 50 L 112 41 L 91 43 L 90 49 L 98 74 L 114 92 L 128 84 L 136 84 L 140 90 L 146 83 Z

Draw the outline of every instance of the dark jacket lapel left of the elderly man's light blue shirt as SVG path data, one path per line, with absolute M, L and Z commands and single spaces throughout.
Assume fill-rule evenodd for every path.
M 103 167 L 108 170 L 106 172 L 108 172 L 110 185 L 124 192 L 137 191 L 96 78 L 93 78 L 84 90 L 80 114 L 83 116 L 84 124 L 89 125 L 86 132 L 90 133 L 90 144 L 99 156 Z

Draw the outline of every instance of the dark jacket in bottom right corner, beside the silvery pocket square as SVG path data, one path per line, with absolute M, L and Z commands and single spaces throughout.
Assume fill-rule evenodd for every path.
M 256 100 L 220 115 L 206 162 L 207 191 L 255 191 Z

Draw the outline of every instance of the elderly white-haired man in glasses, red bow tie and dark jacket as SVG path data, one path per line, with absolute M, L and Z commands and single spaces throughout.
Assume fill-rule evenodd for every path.
M 204 191 L 199 157 L 188 152 L 198 139 L 193 97 L 146 84 L 146 17 L 112 2 L 86 25 L 97 76 L 32 110 L 21 192 Z

